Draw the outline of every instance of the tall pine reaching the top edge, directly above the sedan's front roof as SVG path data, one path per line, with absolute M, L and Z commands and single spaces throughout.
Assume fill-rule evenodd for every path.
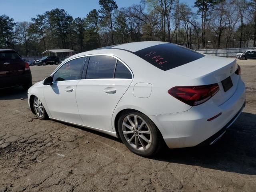
M 101 9 L 99 10 L 100 19 L 102 26 L 107 26 L 111 32 L 112 45 L 114 45 L 114 32 L 113 32 L 113 11 L 118 8 L 114 0 L 100 0 L 99 5 Z

